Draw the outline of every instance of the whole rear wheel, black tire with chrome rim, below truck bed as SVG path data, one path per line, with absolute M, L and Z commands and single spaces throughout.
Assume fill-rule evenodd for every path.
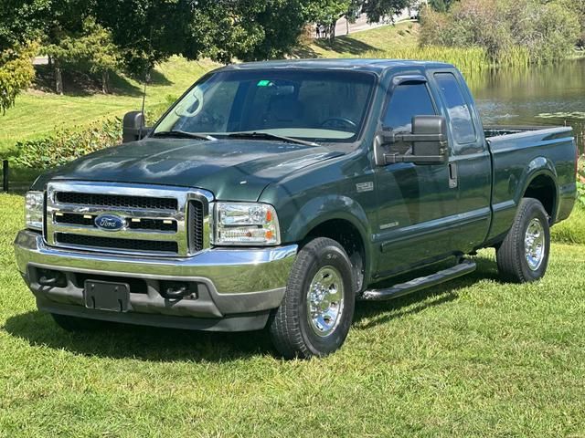
M 547 272 L 549 252 L 548 214 L 542 203 L 524 198 L 518 205 L 512 228 L 496 248 L 498 271 L 516 283 L 536 281 Z

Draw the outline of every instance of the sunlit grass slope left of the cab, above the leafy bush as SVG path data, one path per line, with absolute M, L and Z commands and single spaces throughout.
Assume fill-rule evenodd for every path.
M 146 110 L 167 106 L 167 97 L 178 98 L 193 82 L 209 69 L 208 61 L 189 62 L 172 57 L 158 66 L 153 84 L 148 87 Z M 58 96 L 53 93 L 29 91 L 16 99 L 16 105 L 0 114 L 0 156 L 16 141 L 49 135 L 58 128 L 75 129 L 104 117 L 122 117 L 142 106 L 142 86 L 131 78 L 116 78 L 111 95 L 77 94 Z

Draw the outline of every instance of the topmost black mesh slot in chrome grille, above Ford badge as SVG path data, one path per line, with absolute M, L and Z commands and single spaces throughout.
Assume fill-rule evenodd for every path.
M 56 193 L 58 203 L 75 203 L 98 207 L 144 208 L 148 210 L 176 210 L 174 198 L 154 198 L 145 196 L 129 196 L 123 194 L 101 193 Z

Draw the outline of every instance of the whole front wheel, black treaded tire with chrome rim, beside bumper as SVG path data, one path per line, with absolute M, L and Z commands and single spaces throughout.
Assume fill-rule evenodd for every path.
M 342 346 L 354 318 L 353 284 L 349 258 L 335 240 L 318 237 L 303 246 L 268 327 L 282 357 L 321 357 Z

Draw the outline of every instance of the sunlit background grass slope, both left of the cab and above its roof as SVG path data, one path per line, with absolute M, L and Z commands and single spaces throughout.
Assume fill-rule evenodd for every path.
M 370 50 L 416 45 L 418 25 L 399 23 L 340 36 L 333 46 L 326 41 L 301 45 L 295 57 L 356 57 Z M 186 61 L 172 57 L 158 66 L 153 84 L 148 87 L 146 110 L 162 112 L 170 103 L 199 78 L 218 64 L 210 61 Z M 56 128 L 75 129 L 104 117 L 122 117 L 142 106 L 142 86 L 131 78 L 114 78 L 112 95 L 80 94 L 58 96 L 50 92 L 31 90 L 16 99 L 15 107 L 0 114 L 0 158 L 16 141 L 45 137 Z

